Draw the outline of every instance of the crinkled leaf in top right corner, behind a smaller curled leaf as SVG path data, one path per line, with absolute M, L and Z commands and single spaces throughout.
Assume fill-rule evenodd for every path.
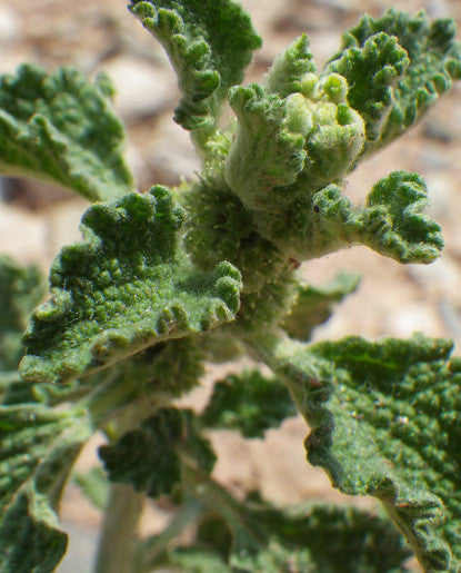
M 364 16 L 354 28 L 343 34 L 342 50 L 333 56 L 328 67 L 342 67 L 334 60 L 348 58 L 348 53 L 358 53 L 357 48 L 362 49 L 364 55 L 368 39 L 375 38 L 380 32 L 397 38 L 407 51 L 410 65 L 393 89 L 392 108 L 380 138 L 373 145 L 370 142 L 369 151 L 379 149 L 403 134 L 451 88 L 453 80 L 461 78 L 461 43 L 454 40 L 453 20 L 439 18 L 431 22 L 422 11 L 410 16 L 390 9 L 378 19 Z M 358 72 L 354 71 L 352 78 L 355 73 Z M 372 93 L 375 93 L 374 89 Z M 354 107 L 352 101 L 350 105 Z M 363 108 L 360 100 L 358 106 Z M 359 108 L 355 109 L 360 111 Z

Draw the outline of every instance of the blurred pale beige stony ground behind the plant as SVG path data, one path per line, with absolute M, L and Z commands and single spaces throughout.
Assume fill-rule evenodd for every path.
M 384 0 L 244 0 L 264 46 L 255 55 L 249 78 L 265 71 L 273 57 L 295 36 L 308 31 L 318 63 L 339 46 L 341 30 L 367 10 L 378 16 L 392 2 Z M 181 175 L 198 168 L 188 136 L 171 121 L 177 100 L 176 80 L 161 48 L 130 16 L 123 0 L 27 0 L 0 2 L 1 70 L 12 71 L 22 61 L 52 69 L 71 63 L 89 76 L 106 70 L 119 90 L 117 107 L 128 127 L 129 157 L 146 190 L 152 182 L 176 185 Z M 399 9 L 425 9 L 431 16 L 461 21 L 458 0 L 400 0 Z M 315 284 L 339 268 L 363 276 L 360 289 L 319 328 L 317 338 L 345 334 L 408 336 L 423 330 L 461 343 L 461 86 L 427 117 L 425 121 L 352 174 L 348 194 L 360 200 L 371 185 L 389 171 L 418 171 L 427 180 L 432 215 L 444 228 L 445 249 L 428 267 L 400 266 L 364 248 L 353 248 L 305 266 Z M 0 245 L 23 263 L 47 268 L 60 246 L 79 237 L 78 223 L 86 202 L 69 191 L 34 181 L 6 179 L 0 187 Z M 210 376 L 211 378 L 211 376 Z M 200 405 L 209 382 L 191 398 Z M 309 497 L 338 500 L 321 471 L 304 462 L 305 425 L 288 421 L 267 441 L 243 442 L 232 433 L 217 435 L 222 458 L 218 477 L 237 491 L 261 486 L 275 502 Z M 94 444 L 93 444 L 94 446 Z M 81 466 L 94 457 L 94 447 Z M 354 503 L 369 504 L 368 500 Z M 70 488 L 63 521 L 71 532 L 69 557 L 60 573 L 90 571 L 99 514 Z M 152 532 L 168 518 L 168 508 L 152 505 L 143 523 Z

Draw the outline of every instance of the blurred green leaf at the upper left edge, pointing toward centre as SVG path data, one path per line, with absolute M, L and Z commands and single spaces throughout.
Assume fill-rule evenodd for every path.
M 38 177 L 90 200 L 133 186 L 123 157 L 123 127 L 107 78 L 78 70 L 47 73 L 31 65 L 0 78 L 0 172 Z

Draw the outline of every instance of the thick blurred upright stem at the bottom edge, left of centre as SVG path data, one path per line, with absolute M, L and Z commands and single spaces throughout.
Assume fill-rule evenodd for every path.
M 133 554 L 142 505 L 143 495 L 132 487 L 110 486 L 96 573 L 136 573 Z

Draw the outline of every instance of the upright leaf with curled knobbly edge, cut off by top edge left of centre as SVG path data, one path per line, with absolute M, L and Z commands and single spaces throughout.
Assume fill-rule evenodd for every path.
M 174 120 L 207 138 L 229 88 L 242 81 L 261 46 L 250 17 L 233 0 L 131 0 L 130 10 L 163 46 L 178 75 L 182 97 Z

